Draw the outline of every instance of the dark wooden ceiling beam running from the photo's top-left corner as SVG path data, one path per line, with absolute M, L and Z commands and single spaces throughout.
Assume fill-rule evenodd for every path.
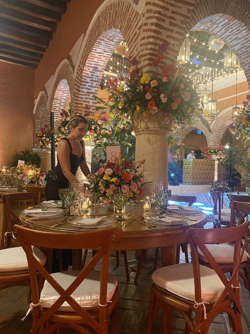
M 27 3 L 23 0 L 0 0 L 0 5 L 7 8 L 17 9 L 21 13 L 32 14 L 33 16 L 42 19 L 50 19 L 56 22 L 61 21 L 60 13 Z

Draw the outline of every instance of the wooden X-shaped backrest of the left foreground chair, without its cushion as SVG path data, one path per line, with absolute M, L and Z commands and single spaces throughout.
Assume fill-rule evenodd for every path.
M 121 239 L 121 230 L 118 227 L 98 230 L 94 232 L 78 232 L 78 233 L 54 233 L 45 231 L 36 231 L 24 226 L 13 226 L 14 236 L 18 239 L 23 247 L 29 265 L 32 302 L 39 302 L 38 284 L 36 279 L 36 269 L 41 273 L 44 279 L 59 293 L 59 299 L 42 315 L 39 315 L 39 308 L 33 309 L 33 333 L 38 333 L 44 323 L 58 310 L 58 308 L 67 302 L 76 313 L 74 317 L 80 316 L 89 326 L 95 329 L 97 333 L 107 333 L 106 331 L 106 305 L 107 305 L 107 281 L 109 268 L 109 254 L 111 244 Z M 32 253 L 31 245 L 43 246 L 47 248 L 92 248 L 98 249 L 98 252 L 89 262 L 89 264 L 80 272 L 75 281 L 64 290 L 40 265 Z M 100 302 L 99 302 L 99 322 L 94 320 L 88 312 L 86 312 L 72 297 L 72 293 L 82 283 L 86 276 L 94 269 L 96 264 L 102 259 L 101 279 L 100 279 Z M 86 331 L 87 332 L 87 331 Z M 89 332 L 89 331 L 88 331 Z

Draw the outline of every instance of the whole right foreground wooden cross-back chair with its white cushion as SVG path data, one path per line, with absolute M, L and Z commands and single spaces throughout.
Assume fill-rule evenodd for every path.
M 185 334 L 207 334 L 213 319 L 226 312 L 233 331 L 242 334 L 241 305 L 239 301 L 239 266 L 244 254 L 242 238 L 249 222 L 226 229 L 189 228 L 186 240 L 190 243 L 192 264 L 179 264 L 158 269 L 152 274 L 151 299 L 146 334 L 151 333 L 152 322 L 162 308 L 163 333 L 172 333 L 173 308 L 186 320 Z M 228 280 L 207 248 L 207 244 L 234 240 L 233 272 Z M 199 264 L 199 248 L 212 268 Z M 190 280 L 193 284 L 190 285 Z M 193 288 L 192 288 L 192 287 Z M 191 287 L 191 288 L 190 288 Z M 233 308 L 231 304 L 233 303 Z M 195 313 L 195 319 L 192 318 Z

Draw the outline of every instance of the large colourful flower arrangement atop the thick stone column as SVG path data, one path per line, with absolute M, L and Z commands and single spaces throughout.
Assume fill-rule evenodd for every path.
M 129 119 L 134 127 L 136 118 L 147 117 L 146 111 L 150 112 L 149 118 L 156 117 L 160 127 L 159 114 L 162 114 L 164 123 L 173 128 L 191 122 L 192 115 L 197 112 L 197 93 L 192 88 L 193 82 L 187 79 L 185 69 L 174 64 L 161 64 L 168 45 L 166 42 L 159 47 L 151 64 L 156 68 L 154 73 L 140 70 L 134 57 L 130 58 L 129 76 L 118 75 L 108 80 L 109 101 L 112 102 L 109 111 Z

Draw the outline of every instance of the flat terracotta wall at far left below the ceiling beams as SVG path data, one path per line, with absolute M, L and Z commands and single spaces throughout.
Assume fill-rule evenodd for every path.
M 33 147 L 33 69 L 0 61 L 0 165 Z

